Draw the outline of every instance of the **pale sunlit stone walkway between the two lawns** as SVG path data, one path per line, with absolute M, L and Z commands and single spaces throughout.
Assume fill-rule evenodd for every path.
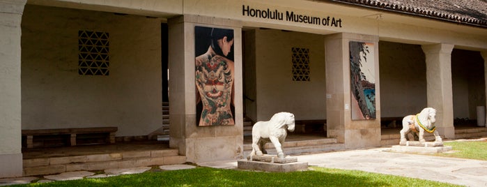
M 297 157 L 318 167 L 393 174 L 465 186 L 487 186 L 486 160 L 394 153 L 390 149 L 360 149 Z

